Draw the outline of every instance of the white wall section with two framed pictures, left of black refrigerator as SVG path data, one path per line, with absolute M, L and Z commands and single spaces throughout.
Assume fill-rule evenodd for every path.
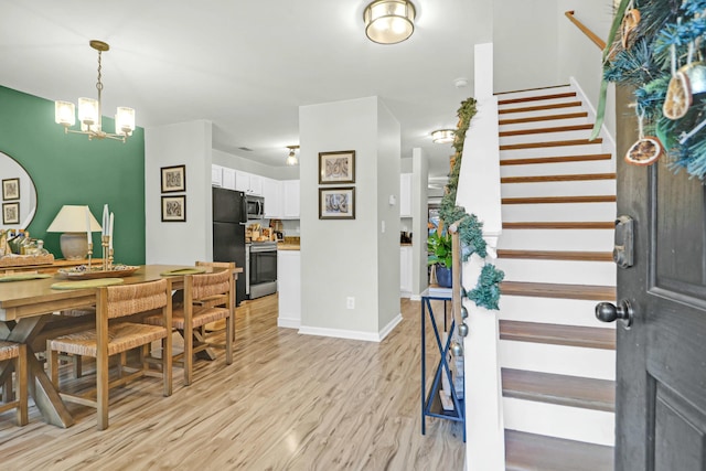
M 193 265 L 213 258 L 210 121 L 145 129 L 147 264 Z M 161 222 L 160 168 L 186 165 L 186 222 Z

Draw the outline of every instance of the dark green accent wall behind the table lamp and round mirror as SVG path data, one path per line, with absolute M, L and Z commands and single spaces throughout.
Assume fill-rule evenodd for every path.
M 103 124 L 114 129 L 113 119 L 104 116 Z M 38 207 L 28 231 L 43 239 L 55 258 L 62 258 L 61 234 L 46 233 L 46 227 L 62 205 L 88 204 L 100 223 L 107 203 L 115 213 L 115 261 L 145 264 L 142 128 L 126 143 L 65 135 L 54 122 L 54 101 L 0 86 L 0 151 L 14 158 L 34 181 Z M 100 257 L 100 233 L 94 233 L 93 243 L 94 256 Z

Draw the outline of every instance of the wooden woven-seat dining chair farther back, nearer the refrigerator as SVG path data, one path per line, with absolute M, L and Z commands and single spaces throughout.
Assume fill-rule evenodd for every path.
M 197 264 L 199 265 L 199 264 Z M 204 263 L 201 264 L 203 266 Z M 181 361 L 184 367 L 184 385 L 193 381 L 193 358 L 199 352 L 210 347 L 225 349 L 225 362 L 233 363 L 233 331 L 235 329 L 235 264 L 213 263 L 222 268 L 212 274 L 184 276 L 183 304 L 174 307 L 171 325 L 184 339 L 184 351 L 174 355 L 174 362 Z M 206 324 L 225 320 L 225 343 L 215 343 L 205 329 Z M 163 325 L 159 315 L 150 315 L 143 322 Z

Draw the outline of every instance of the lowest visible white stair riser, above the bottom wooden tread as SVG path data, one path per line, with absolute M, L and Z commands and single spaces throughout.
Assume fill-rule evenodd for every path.
M 613 413 L 504 397 L 503 414 L 507 430 L 605 446 L 614 443 Z

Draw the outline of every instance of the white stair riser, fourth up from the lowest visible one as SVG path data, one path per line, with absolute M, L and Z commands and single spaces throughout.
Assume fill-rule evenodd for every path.
M 616 265 L 612 261 L 498 258 L 495 266 L 505 272 L 507 281 L 616 285 Z

